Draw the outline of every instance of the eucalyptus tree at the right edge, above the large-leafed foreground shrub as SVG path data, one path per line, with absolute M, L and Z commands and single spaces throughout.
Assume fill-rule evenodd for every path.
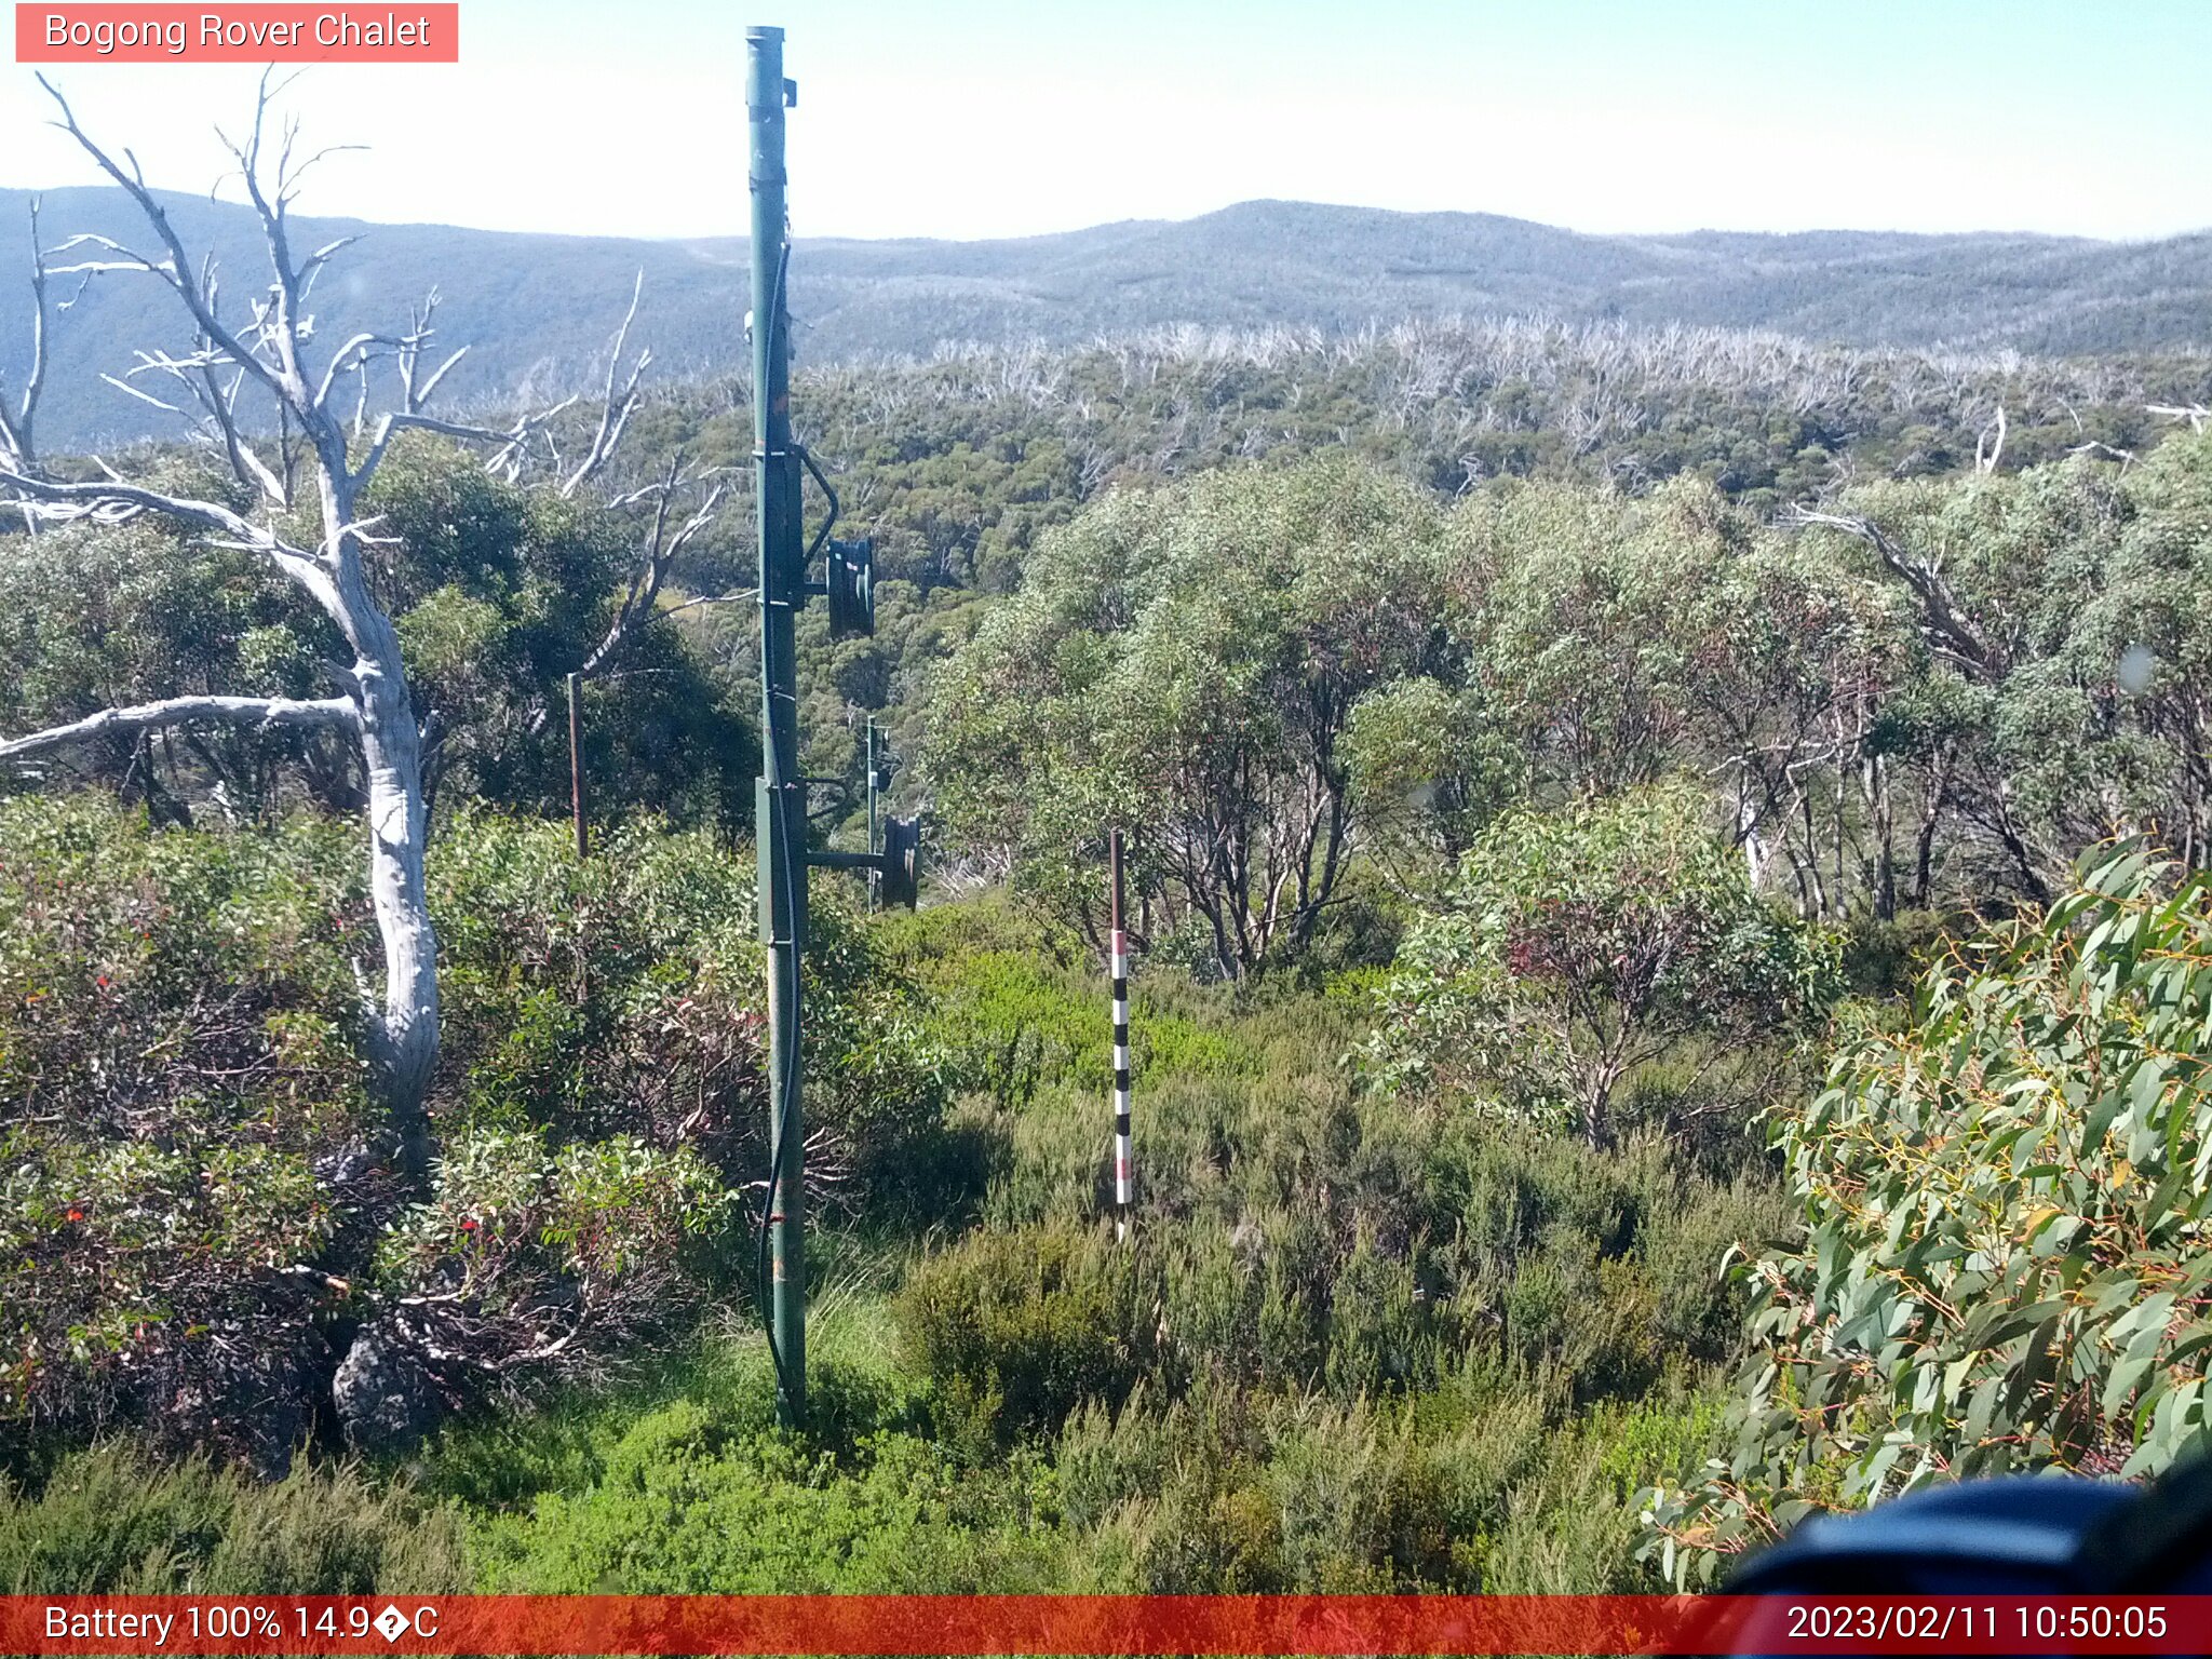
M 1807 535 L 1858 551 L 1891 595 L 1911 661 L 1876 743 L 1913 774 L 1929 902 L 2044 902 L 2108 836 L 2203 863 L 2212 834 L 2212 445 L 2177 434 L 2141 462 L 2090 456 L 1847 493 Z

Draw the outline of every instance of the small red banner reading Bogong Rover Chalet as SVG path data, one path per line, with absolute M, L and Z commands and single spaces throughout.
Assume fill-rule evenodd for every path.
M 18 4 L 18 64 L 458 64 L 458 4 Z

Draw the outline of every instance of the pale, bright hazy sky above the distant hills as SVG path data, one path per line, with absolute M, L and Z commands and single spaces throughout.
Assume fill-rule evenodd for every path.
M 356 4 L 383 13 L 385 4 Z M 400 11 L 405 4 L 400 0 Z M 801 237 L 1009 237 L 1250 197 L 1577 230 L 2212 223 L 2212 0 L 462 0 L 458 66 L 294 88 L 303 210 L 743 228 L 743 24 L 787 29 Z M 252 71 L 71 64 L 86 124 L 206 190 Z M 95 181 L 0 69 L 0 186 Z

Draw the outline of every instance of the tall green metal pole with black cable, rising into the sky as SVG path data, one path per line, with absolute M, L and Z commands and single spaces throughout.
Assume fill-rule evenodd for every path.
M 768 945 L 770 1079 L 770 1338 L 776 1413 L 807 1413 L 805 1124 L 799 1115 L 799 949 L 807 929 L 805 783 L 799 774 L 799 655 L 805 595 L 799 451 L 792 447 L 790 316 L 783 283 L 783 31 L 745 31 L 745 115 L 752 128 L 752 484 L 761 531 L 761 763 L 754 838 L 761 940 Z

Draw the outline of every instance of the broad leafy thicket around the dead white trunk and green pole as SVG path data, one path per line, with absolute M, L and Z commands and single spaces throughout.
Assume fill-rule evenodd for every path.
M 358 1048 L 341 825 L 0 801 L 0 1449 L 144 1427 L 274 1471 L 356 1329 L 469 1398 L 619 1365 L 750 1281 L 712 1248 L 765 1164 L 750 865 L 648 823 L 580 863 L 557 825 L 462 814 L 429 885 L 440 1155 L 409 1194 Z M 971 1186 L 914 993 L 834 905 L 810 995 L 836 1199 Z

